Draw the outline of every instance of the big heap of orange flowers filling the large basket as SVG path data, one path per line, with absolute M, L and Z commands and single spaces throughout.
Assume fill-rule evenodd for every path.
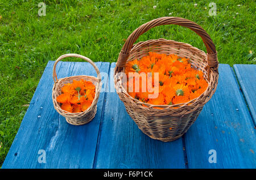
M 191 67 L 189 59 L 179 57 L 176 54 L 158 54 L 150 52 L 149 55 L 135 59 L 126 63 L 125 73 L 129 77 L 129 72 L 151 72 L 159 74 L 159 94 L 156 98 L 148 98 L 152 92 L 142 92 L 142 80 L 139 81 L 139 92 L 129 92 L 129 81 L 133 80 L 133 88 L 136 84 L 134 78 L 127 78 L 127 92 L 133 98 L 153 105 L 174 105 L 185 103 L 199 97 L 208 87 L 204 79 L 203 72 Z M 148 82 L 147 82 L 148 83 Z M 154 80 L 152 80 L 154 87 Z

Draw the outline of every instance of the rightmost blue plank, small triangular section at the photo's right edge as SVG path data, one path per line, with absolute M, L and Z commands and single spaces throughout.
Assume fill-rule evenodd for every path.
M 256 125 L 256 65 L 234 65 L 234 70 Z

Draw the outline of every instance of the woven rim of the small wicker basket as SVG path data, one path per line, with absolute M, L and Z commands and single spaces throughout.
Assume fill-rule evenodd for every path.
M 95 86 L 96 86 L 95 94 L 96 94 L 96 93 L 100 94 L 100 91 L 101 91 L 101 79 L 98 79 L 98 78 L 96 78 L 95 76 L 89 76 L 89 75 L 68 76 L 68 77 L 65 77 L 65 78 L 59 78 L 59 79 L 53 84 L 53 87 L 52 87 L 52 100 L 53 100 L 53 101 L 57 101 L 56 98 L 53 96 L 53 95 L 54 95 L 53 89 L 56 88 L 57 84 L 59 84 L 61 81 L 65 80 L 65 79 L 67 79 L 67 78 L 76 78 L 76 77 L 80 77 L 80 76 L 82 76 L 82 77 L 94 78 L 94 79 L 96 80 L 96 83 L 97 83 L 97 84 L 95 85 Z M 92 110 L 92 105 L 93 105 L 94 103 L 96 103 L 96 106 L 97 106 L 97 101 L 98 101 L 98 98 L 97 98 L 97 100 L 96 100 L 96 95 L 95 95 L 95 97 L 93 98 L 92 104 L 89 106 L 89 108 L 86 109 L 84 112 L 80 112 L 80 113 L 70 113 L 70 112 L 67 112 L 67 111 L 61 109 L 61 108 L 60 108 L 60 105 L 59 105 L 59 102 L 56 103 L 57 106 L 55 105 L 55 103 L 53 103 L 53 106 L 54 106 L 54 108 L 57 110 L 57 112 L 59 112 L 61 115 L 65 116 L 65 117 L 67 117 L 67 118 L 73 118 L 73 117 L 71 117 L 70 115 L 83 116 L 83 115 L 85 115 L 86 113 L 90 112 L 90 110 Z M 62 111 L 62 112 L 60 112 L 60 111 Z

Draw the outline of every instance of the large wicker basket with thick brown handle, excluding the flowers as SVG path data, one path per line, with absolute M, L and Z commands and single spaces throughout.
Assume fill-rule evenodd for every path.
M 207 54 L 189 44 L 163 38 L 138 42 L 138 44 L 134 45 L 134 42 L 144 32 L 158 25 L 166 24 L 181 25 L 196 32 L 202 38 L 207 48 Z M 119 72 L 125 72 L 127 61 L 141 59 L 148 55 L 148 52 L 177 54 L 180 57 L 189 58 L 193 68 L 203 71 L 204 77 L 209 84 L 208 88 L 201 96 L 187 103 L 177 105 L 151 105 L 131 97 L 127 93 L 125 85 L 122 84 L 123 73 Z M 125 104 L 127 113 L 137 123 L 139 129 L 144 134 L 150 136 L 150 138 L 170 142 L 180 138 L 187 132 L 188 128 L 191 127 L 200 114 L 205 103 L 210 100 L 216 91 L 218 82 L 217 52 L 210 36 L 200 25 L 177 17 L 158 18 L 141 25 L 127 38 L 119 53 L 114 74 L 115 89 Z M 163 109 L 156 109 L 154 107 Z

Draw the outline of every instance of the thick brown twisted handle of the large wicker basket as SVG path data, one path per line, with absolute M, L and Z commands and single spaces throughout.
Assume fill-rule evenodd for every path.
M 217 59 L 217 52 L 216 52 L 215 45 L 212 39 L 210 38 L 210 36 L 208 35 L 208 33 L 205 32 L 204 29 L 200 27 L 200 25 L 184 18 L 162 17 L 162 18 L 151 20 L 150 22 L 147 22 L 145 24 L 142 24 L 140 27 L 135 29 L 133 33 L 131 33 L 131 35 L 127 38 L 125 44 L 123 45 L 121 52 L 119 53 L 118 61 L 115 68 L 116 72 L 121 71 L 122 68 L 125 67 L 127 58 L 129 57 L 130 50 L 139 36 L 147 32 L 151 28 L 154 28 L 158 25 L 167 25 L 167 24 L 181 25 L 183 27 L 187 27 L 192 31 L 196 32 L 197 35 L 199 35 L 202 38 L 204 45 L 207 48 L 208 67 L 213 67 L 214 69 L 217 70 L 218 59 Z

